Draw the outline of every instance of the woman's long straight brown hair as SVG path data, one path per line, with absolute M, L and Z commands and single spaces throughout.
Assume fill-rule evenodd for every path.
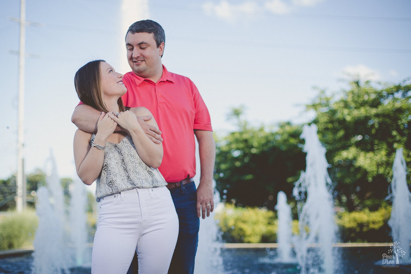
M 79 68 L 74 76 L 74 87 L 80 101 L 93 108 L 109 112 L 103 101 L 103 92 L 101 87 L 100 63 L 104 60 L 94 60 Z M 124 104 L 120 98 L 117 101 L 120 111 L 124 111 Z

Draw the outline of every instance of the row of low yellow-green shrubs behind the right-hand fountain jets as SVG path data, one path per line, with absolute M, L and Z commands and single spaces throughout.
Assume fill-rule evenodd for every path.
M 392 242 L 390 236 L 391 207 L 386 203 L 376 211 L 364 209 L 339 212 L 336 223 L 341 242 Z M 278 219 L 275 212 L 259 207 L 236 207 L 225 204 L 215 214 L 222 239 L 227 243 L 277 242 Z M 298 220 L 293 220 L 293 235 L 298 235 Z

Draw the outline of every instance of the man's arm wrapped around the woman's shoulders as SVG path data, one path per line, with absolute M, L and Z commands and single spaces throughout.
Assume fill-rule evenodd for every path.
M 134 112 L 135 108 L 130 108 L 130 111 Z M 78 127 L 79 129 L 90 132 L 96 133 L 97 132 L 97 121 L 99 120 L 101 112 L 97 111 L 97 109 L 92 108 L 86 104 L 78 105 L 73 112 L 72 115 L 72 122 Z M 163 138 L 161 138 L 161 131 L 159 129 L 146 121 L 149 121 L 152 118 L 152 115 L 149 116 L 137 116 L 137 121 L 139 122 L 141 128 L 143 129 L 144 133 L 147 134 L 148 138 L 152 140 L 154 143 L 161 143 Z M 124 131 L 121 127 L 117 126 L 115 131 Z

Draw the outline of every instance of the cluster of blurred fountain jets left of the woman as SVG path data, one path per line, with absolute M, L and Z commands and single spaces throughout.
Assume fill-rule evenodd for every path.
M 37 189 L 39 226 L 33 243 L 32 274 L 70 273 L 70 267 L 91 264 L 91 253 L 86 251 L 85 188 L 78 179 L 71 185 L 72 199 L 67 216 L 52 153 L 47 163 L 50 163 L 50 168 L 46 169 L 47 187 Z

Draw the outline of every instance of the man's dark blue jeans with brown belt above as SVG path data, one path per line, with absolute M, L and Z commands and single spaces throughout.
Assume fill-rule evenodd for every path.
M 197 216 L 197 195 L 194 182 L 170 189 L 175 211 L 178 215 L 179 231 L 169 274 L 193 274 L 194 261 L 199 242 L 200 219 Z M 127 274 L 138 273 L 138 260 L 135 254 Z

